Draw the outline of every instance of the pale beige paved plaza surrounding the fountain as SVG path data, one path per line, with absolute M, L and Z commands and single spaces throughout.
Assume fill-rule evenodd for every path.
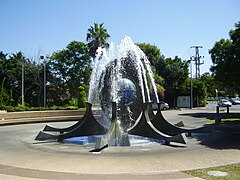
M 182 120 L 196 127 L 208 121 L 194 117 L 202 111 L 170 110 L 163 114 L 172 123 Z M 72 123 L 51 124 L 66 127 Z M 0 179 L 190 180 L 199 178 L 182 171 L 240 163 L 240 133 L 193 134 L 186 146 L 110 147 L 90 153 L 89 146 L 35 141 L 44 126 L 0 127 Z

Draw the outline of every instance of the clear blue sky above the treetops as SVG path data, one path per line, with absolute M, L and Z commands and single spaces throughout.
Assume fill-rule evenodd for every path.
M 0 51 L 22 51 L 36 58 L 62 50 L 73 41 L 86 42 L 87 29 L 104 23 L 119 44 L 158 46 L 165 57 L 189 59 L 190 46 L 202 45 L 200 55 L 211 66 L 208 49 L 240 21 L 239 0 L 0 0 Z

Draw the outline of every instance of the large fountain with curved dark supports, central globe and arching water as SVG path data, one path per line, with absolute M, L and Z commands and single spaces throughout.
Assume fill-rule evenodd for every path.
M 126 36 L 118 47 L 111 44 L 108 51 L 99 48 L 92 67 L 84 117 L 66 128 L 46 125 L 36 140 L 62 142 L 71 137 L 94 136 L 95 149 L 101 150 L 107 146 L 131 146 L 129 136 L 158 139 L 163 144 L 186 144 L 185 133 L 205 131 L 204 127 L 179 128 L 165 120 L 150 63 L 130 37 Z M 156 114 L 153 102 L 158 104 Z M 92 106 L 101 108 L 100 115 L 94 115 Z

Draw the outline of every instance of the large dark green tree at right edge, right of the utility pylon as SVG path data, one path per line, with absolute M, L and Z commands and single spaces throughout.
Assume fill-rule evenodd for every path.
M 240 92 L 240 22 L 235 24 L 235 29 L 229 32 L 230 39 L 217 41 L 209 50 L 216 80 L 225 86 L 229 92 Z

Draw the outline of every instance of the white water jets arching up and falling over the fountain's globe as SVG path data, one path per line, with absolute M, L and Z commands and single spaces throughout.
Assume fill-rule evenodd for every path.
M 121 124 L 128 127 L 133 124 L 132 119 L 138 117 L 140 112 L 138 104 L 152 101 L 150 93 L 154 94 L 156 101 L 159 102 L 150 62 L 143 51 L 128 36 L 125 36 L 117 47 L 111 43 L 108 50 L 99 48 L 96 58 L 92 62 L 92 69 L 88 102 L 100 104 L 104 119 L 108 119 L 108 121 L 112 101 L 119 104 L 120 115 L 118 118 L 120 121 L 126 121 L 127 123 Z M 119 86 L 119 82 L 134 84 L 133 86 L 136 87 L 135 99 L 132 98 L 132 94 L 135 92 L 124 89 L 123 85 Z M 150 85 L 154 92 L 150 92 Z M 131 101 L 128 102 L 130 96 Z

